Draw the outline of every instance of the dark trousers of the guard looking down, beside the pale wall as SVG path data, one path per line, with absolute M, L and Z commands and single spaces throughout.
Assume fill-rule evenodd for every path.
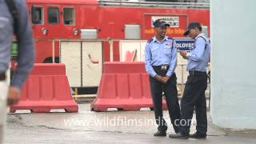
M 206 134 L 206 95 L 207 74 L 206 72 L 192 73 L 187 78 L 184 94 L 181 101 L 181 114 L 179 130 L 182 134 L 190 133 L 191 119 L 194 110 L 197 119 L 197 133 Z

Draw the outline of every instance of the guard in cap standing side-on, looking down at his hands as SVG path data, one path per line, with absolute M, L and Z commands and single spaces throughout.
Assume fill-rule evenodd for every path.
M 210 58 L 210 41 L 202 34 L 202 26 L 198 22 L 191 22 L 184 33 L 185 36 L 195 39 L 195 47 L 190 53 L 181 51 L 182 58 L 188 59 L 187 78 L 185 90 L 181 101 L 182 118 L 178 124 L 178 134 L 170 134 L 170 138 L 206 138 L 207 115 L 206 95 L 207 74 L 206 69 Z M 196 112 L 196 132 L 190 134 L 190 124 L 193 112 Z

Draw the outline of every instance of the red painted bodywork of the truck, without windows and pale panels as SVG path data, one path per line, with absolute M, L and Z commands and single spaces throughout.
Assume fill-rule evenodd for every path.
M 171 37 L 183 37 L 182 33 L 189 22 L 200 22 L 207 27 L 210 34 L 210 10 L 193 8 L 170 8 L 149 6 L 103 6 L 97 0 L 26 0 L 27 8 L 32 18 L 32 7 L 42 8 L 42 23 L 32 22 L 35 39 L 80 39 L 82 29 L 97 30 L 98 39 L 125 39 L 125 25 L 138 25 L 141 28 L 140 38 L 148 39 L 154 36 L 154 28 L 151 26 L 154 16 L 177 16 L 179 24 L 167 29 L 167 35 Z M 58 23 L 50 24 L 49 7 L 58 8 Z M 74 23 L 65 25 L 63 20 L 64 8 L 74 9 Z M 43 34 L 46 30 L 46 34 Z M 78 34 L 74 34 L 77 30 Z M 110 48 L 108 42 L 103 42 L 103 60 L 110 61 Z M 54 42 L 55 60 L 58 62 L 59 42 Z M 36 41 L 36 62 L 51 62 L 51 41 Z M 114 42 L 114 61 L 119 61 L 118 42 Z

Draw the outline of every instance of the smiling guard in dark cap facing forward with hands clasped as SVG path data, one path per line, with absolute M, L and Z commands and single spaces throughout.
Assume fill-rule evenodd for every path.
M 177 66 L 177 49 L 174 47 L 173 38 L 166 36 L 166 26 L 170 25 L 162 19 L 156 20 L 155 36 L 148 40 L 145 47 L 145 67 L 150 75 L 154 115 L 158 124 L 158 131 L 154 136 L 166 136 L 167 124 L 162 117 L 162 91 L 166 96 L 171 123 L 176 133 L 178 133 L 178 126 L 175 126 L 174 122 L 178 122 L 181 116 L 176 87 L 177 78 L 174 73 Z

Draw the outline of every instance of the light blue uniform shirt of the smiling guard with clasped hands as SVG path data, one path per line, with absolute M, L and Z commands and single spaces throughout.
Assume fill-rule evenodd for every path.
M 149 41 L 145 47 L 145 66 L 146 72 L 151 77 L 156 75 L 152 66 L 170 65 L 166 76 L 174 74 L 177 66 L 177 49 L 174 47 L 173 39 L 165 37 L 162 42 L 158 42 L 157 38 Z

